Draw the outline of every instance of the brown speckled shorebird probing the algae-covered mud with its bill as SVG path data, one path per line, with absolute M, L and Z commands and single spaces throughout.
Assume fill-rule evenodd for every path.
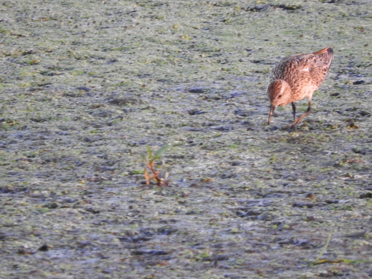
M 309 54 L 296 54 L 283 58 L 270 71 L 270 83 L 267 94 L 270 99 L 270 113 L 267 124 L 277 106 L 292 103 L 294 122 L 297 125 L 302 118 L 311 112 L 312 93 L 323 82 L 331 66 L 333 50 L 330 47 Z M 307 111 L 296 119 L 295 101 L 307 97 L 309 100 Z M 295 126 L 296 128 L 296 126 Z

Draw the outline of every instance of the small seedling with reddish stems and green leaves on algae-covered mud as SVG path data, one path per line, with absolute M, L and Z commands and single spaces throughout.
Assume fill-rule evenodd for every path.
M 146 184 L 150 185 L 150 181 L 153 180 L 156 185 L 158 186 L 168 186 L 167 177 L 168 173 L 166 173 L 166 176 L 160 177 L 160 171 L 155 169 L 155 160 L 158 160 L 161 158 L 161 155 L 164 154 L 166 149 L 169 147 L 169 145 L 164 145 L 163 147 L 159 148 L 158 151 L 153 155 L 153 152 L 151 151 L 150 145 L 147 145 L 147 155 L 141 154 L 142 160 L 144 160 L 146 166 L 145 166 L 145 180 Z M 152 174 L 151 174 L 152 173 Z

